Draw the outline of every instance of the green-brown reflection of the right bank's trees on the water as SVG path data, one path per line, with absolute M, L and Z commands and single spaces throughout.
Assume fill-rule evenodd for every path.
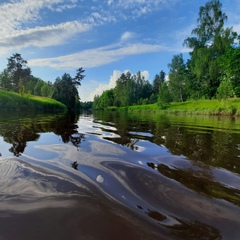
M 96 122 L 113 126 L 110 130 L 118 138 L 105 138 L 124 146 L 131 146 L 132 139 L 144 139 L 164 145 L 171 154 L 186 156 L 191 161 L 203 162 L 240 174 L 240 134 L 233 133 L 232 121 L 224 119 L 227 128 L 219 128 L 218 118 L 187 116 L 151 115 L 140 113 L 104 112 L 94 113 Z M 189 120 L 187 119 L 189 118 Z M 187 120 L 186 120 L 187 119 Z M 203 121 L 203 122 L 202 122 Z M 203 124 L 207 121 L 207 124 Z M 188 123 L 189 122 L 189 123 Z M 236 129 L 238 127 L 236 126 Z M 224 131 L 221 131 L 224 130 Z M 103 129 L 103 131 L 108 131 Z M 146 132 L 153 137 L 133 136 L 130 131 Z

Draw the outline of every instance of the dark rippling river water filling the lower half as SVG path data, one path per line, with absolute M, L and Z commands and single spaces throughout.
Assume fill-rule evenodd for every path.
M 0 113 L 0 240 L 240 239 L 240 119 Z

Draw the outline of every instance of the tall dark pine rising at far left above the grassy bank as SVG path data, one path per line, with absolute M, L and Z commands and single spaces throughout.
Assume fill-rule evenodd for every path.
M 27 61 L 19 53 L 15 53 L 8 58 L 7 71 L 12 78 L 12 89 L 16 92 L 19 92 L 20 79 L 21 84 L 26 86 L 31 75 L 31 69 L 27 67 Z

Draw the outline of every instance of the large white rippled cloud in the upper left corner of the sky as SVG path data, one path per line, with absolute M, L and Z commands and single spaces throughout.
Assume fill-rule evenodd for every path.
M 75 3 L 76 0 L 21 0 L 0 4 L 0 54 L 30 46 L 63 44 L 74 34 L 90 30 L 92 25 L 77 20 L 40 26 L 40 10 L 63 11 L 75 7 Z

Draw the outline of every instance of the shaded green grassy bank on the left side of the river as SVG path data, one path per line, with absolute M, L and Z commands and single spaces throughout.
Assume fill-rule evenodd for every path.
M 0 90 L 1 110 L 65 111 L 64 104 L 50 98 L 21 96 L 14 92 Z

